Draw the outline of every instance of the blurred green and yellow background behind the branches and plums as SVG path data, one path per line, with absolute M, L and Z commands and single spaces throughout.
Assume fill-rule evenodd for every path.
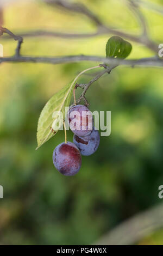
M 139 33 L 140 27 L 123 1 L 79 1 L 111 27 Z M 162 4 L 162 1 L 153 1 Z M 162 6 L 163 7 L 163 6 Z M 142 9 L 153 40 L 162 42 L 163 17 Z M 4 27 L 21 33 L 35 29 L 86 33 L 96 31 L 87 17 L 52 8 L 41 1 L 21 1 L 4 8 Z M 105 56 L 111 35 L 85 39 L 24 38 L 21 53 L 30 56 L 92 54 Z M 16 42 L 4 40 L 4 56 Z M 129 58 L 153 56 L 131 42 Z M 98 151 L 83 157 L 76 176 L 53 166 L 54 148 L 64 141 L 59 131 L 39 150 L 37 120 L 48 99 L 80 71 L 95 63 L 0 66 L 0 243 L 11 245 L 82 245 L 96 242 L 124 220 L 161 203 L 163 184 L 162 69 L 118 67 L 87 91 L 92 111 L 111 111 L 111 135 L 101 137 Z M 79 81 L 87 82 L 89 75 Z M 80 89 L 78 89 L 78 93 Z M 73 134 L 68 132 L 68 140 Z M 136 244 L 163 245 L 163 229 Z

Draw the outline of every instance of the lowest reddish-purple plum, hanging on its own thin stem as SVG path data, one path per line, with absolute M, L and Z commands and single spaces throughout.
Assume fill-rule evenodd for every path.
M 82 156 L 74 143 L 63 142 L 53 151 L 53 163 L 61 174 L 73 176 L 79 172 Z

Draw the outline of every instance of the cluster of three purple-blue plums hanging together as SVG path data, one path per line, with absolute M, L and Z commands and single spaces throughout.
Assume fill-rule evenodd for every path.
M 77 105 L 68 112 L 70 129 L 74 133 L 73 142 L 63 142 L 53 151 L 53 163 L 57 170 L 72 176 L 79 172 L 82 155 L 95 153 L 99 146 L 99 132 L 93 127 L 92 113 L 89 108 Z

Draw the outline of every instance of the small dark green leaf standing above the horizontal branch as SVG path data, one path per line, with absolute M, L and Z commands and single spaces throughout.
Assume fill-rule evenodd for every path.
M 106 57 L 125 59 L 132 50 L 130 42 L 120 36 L 112 36 L 106 44 Z

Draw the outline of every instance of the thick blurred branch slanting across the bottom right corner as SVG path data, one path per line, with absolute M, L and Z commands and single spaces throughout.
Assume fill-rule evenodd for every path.
M 163 205 L 157 205 L 118 225 L 104 235 L 96 245 L 133 245 L 153 231 L 163 227 Z

